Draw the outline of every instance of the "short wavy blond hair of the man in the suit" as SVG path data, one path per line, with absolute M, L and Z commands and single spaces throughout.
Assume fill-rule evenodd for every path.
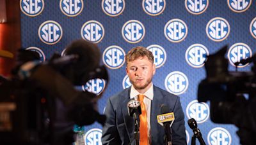
M 150 62 L 152 62 L 152 64 L 154 63 L 154 56 L 153 56 L 152 52 L 150 52 L 149 50 L 147 50 L 147 48 L 145 48 L 143 46 L 137 46 L 135 48 L 132 48 L 127 53 L 127 55 L 125 55 L 125 62 L 127 64 L 127 62 L 134 61 L 140 57 L 147 57 L 148 60 Z

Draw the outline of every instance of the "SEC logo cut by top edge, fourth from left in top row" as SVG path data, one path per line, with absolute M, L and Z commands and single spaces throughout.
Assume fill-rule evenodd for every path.
M 165 0 L 143 0 L 142 8 L 143 10 L 151 16 L 157 16 L 163 13 L 165 9 Z

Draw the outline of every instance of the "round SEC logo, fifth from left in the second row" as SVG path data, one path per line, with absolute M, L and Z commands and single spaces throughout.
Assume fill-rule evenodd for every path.
M 228 37 L 230 26 L 224 18 L 212 18 L 206 26 L 206 34 L 213 41 L 223 41 Z

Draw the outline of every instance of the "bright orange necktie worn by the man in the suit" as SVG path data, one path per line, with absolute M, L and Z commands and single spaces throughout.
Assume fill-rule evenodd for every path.
M 138 95 L 140 106 L 141 106 L 141 114 L 140 114 L 140 145 L 148 145 L 148 127 L 147 127 L 147 111 L 145 104 L 143 102 L 144 95 Z

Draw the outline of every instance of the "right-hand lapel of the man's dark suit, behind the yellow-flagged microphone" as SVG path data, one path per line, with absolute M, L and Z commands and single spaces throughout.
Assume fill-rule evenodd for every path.
M 163 128 L 157 123 L 157 115 L 161 113 L 161 105 L 164 104 L 164 99 L 162 93 L 159 91 L 159 88 L 154 86 L 154 98 L 151 102 L 151 113 L 150 113 L 150 127 L 151 127 L 151 141 L 153 143 L 154 137 L 160 137 L 161 131 Z

